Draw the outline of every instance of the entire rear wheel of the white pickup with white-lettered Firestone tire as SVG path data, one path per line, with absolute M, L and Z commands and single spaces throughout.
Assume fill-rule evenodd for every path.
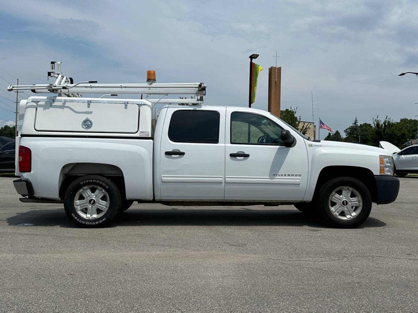
M 119 189 L 105 177 L 87 175 L 72 182 L 64 196 L 64 209 L 71 222 L 79 227 L 108 225 L 120 211 Z

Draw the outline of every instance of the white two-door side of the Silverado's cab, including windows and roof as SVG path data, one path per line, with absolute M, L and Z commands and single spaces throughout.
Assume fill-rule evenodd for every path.
M 302 201 L 305 139 L 272 114 L 241 107 L 168 106 L 155 140 L 155 199 Z M 281 132 L 292 136 L 283 142 Z M 296 135 L 296 134 L 295 134 Z

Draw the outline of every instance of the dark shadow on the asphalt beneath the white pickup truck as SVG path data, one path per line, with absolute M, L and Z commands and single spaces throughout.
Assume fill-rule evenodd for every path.
M 10 226 L 76 227 L 64 209 L 36 209 L 19 213 L 7 220 Z M 358 228 L 384 227 L 385 222 L 369 217 Z M 298 210 L 207 210 L 207 209 L 130 209 L 120 214 L 108 227 L 124 226 L 293 226 L 332 228 L 314 215 Z

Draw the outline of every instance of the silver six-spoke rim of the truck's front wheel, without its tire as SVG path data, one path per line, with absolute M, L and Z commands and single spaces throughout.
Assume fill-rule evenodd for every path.
M 339 220 L 352 220 L 362 210 L 362 196 L 352 187 L 341 186 L 331 192 L 328 199 L 328 207 L 331 213 Z

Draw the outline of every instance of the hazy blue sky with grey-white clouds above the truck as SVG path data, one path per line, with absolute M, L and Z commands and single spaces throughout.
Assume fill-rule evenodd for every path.
M 344 136 L 356 117 L 418 115 L 418 78 L 398 76 L 418 72 L 413 0 L 19 0 L 0 6 L 0 29 L 0 126 L 15 119 L 8 84 L 47 83 L 50 61 L 99 83 L 144 83 L 153 69 L 159 83 L 206 83 L 207 105 L 247 106 L 258 53 L 253 107 L 267 110 L 276 50 L 281 107 L 303 121 Z

